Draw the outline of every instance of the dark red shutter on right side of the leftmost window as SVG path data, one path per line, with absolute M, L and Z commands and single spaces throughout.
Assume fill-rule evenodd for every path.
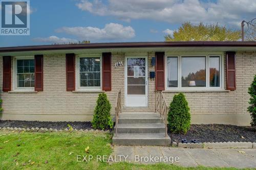
M 35 91 L 42 91 L 44 89 L 43 80 L 43 55 L 35 55 Z

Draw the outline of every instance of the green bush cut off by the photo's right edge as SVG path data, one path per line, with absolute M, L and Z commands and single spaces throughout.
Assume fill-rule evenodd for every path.
M 247 108 L 248 112 L 251 114 L 251 126 L 256 126 L 256 75 L 254 75 L 248 93 L 251 95 L 248 102 L 250 106 Z

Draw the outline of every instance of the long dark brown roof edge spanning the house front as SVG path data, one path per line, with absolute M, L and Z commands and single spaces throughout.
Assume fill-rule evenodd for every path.
M 0 47 L 0 53 L 47 50 L 76 50 L 95 48 L 138 48 L 138 47 L 217 47 L 217 46 L 256 46 L 256 41 L 169 41 L 169 42 L 113 42 L 89 44 L 33 45 Z

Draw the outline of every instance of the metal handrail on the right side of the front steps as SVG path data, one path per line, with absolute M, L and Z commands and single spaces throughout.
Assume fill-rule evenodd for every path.
M 167 136 L 167 113 L 168 106 L 164 99 L 163 92 L 156 90 L 155 92 L 155 112 L 160 113 L 160 117 L 162 117 L 164 125 L 165 125 L 165 137 Z

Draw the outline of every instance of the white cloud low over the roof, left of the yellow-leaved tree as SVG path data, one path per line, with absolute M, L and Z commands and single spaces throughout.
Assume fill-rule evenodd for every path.
M 89 7 L 88 7 L 89 8 Z M 122 40 L 135 36 L 132 27 L 124 27 L 118 23 L 108 23 L 103 29 L 97 27 L 62 27 L 57 33 L 66 33 L 79 37 L 83 40 Z

